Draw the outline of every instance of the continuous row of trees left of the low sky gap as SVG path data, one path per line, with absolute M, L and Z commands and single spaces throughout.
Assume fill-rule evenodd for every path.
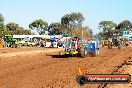
M 19 24 L 10 22 L 4 24 L 4 17 L 0 14 L 0 37 L 4 35 L 20 35 L 20 34 L 33 34 L 31 30 L 36 30 L 38 34 L 42 35 L 48 32 L 49 35 L 59 35 L 63 36 L 76 36 L 81 37 L 82 31 L 83 36 L 92 36 L 93 32 L 88 26 L 82 26 L 84 16 L 80 12 L 72 12 L 61 17 L 60 22 L 52 22 L 48 24 L 47 21 L 43 19 L 36 19 L 29 24 L 29 29 L 24 29 L 20 27 Z

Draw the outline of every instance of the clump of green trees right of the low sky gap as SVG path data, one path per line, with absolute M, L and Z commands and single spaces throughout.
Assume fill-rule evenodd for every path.
M 129 20 L 124 20 L 119 24 L 113 21 L 101 21 L 99 23 L 100 32 L 97 34 L 99 38 L 108 39 L 113 35 L 122 36 L 123 31 L 132 30 L 132 23 Z

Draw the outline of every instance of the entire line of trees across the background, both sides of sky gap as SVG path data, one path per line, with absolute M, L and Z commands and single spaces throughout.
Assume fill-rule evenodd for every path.
M 80 12 L 72 12 L 61 17 L 60 22 L 52 22 L 48 24 L 46 20 L 36 19 L 29 24 L 29 29 L 25 29 L 19 24 L 10 22 L 4 24 L 4 17 L 0 14 L 0 37 L 4 35 L 21 35 L 21 34 L 33 34 L 31 30 L 36 30 L 38 34 L 45 34 L 47 31 L 49 35 L 63 36 L 83 36 L 92 37 L 93 32 L 88 26 L 83 26 L 85 17 Z M 113 21 L 101 21 L 98 26 L 100 32 L 96 35 L 99 38 L 109 38 L 113 35 L 123 35 L 124 30 L 131 30 L 132 23 L 129 20 L 124 20 L 119 24 Z

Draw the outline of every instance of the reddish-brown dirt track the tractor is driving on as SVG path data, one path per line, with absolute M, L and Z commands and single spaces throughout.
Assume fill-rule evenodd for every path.
M 11 50 L 2 52 L 7 51 Z M 87 58 L 58 58 L 57 53 L 0 57 L 0 88 L 97 88 L 99 84 L 76 83 L 78 67 L 87 68 L 88 74 L 110 74 L 132 56 L 131 51 L 103 48 L 99 56 Z

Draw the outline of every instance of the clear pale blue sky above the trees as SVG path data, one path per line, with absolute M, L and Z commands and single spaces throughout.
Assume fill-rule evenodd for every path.
M 36 19 L 42 18 L 50 24 L 60 22 L 65 14 L 81 12 L 85 17 L 84 25 L 95 34 L 102 20 L 132 21 L 131 4 L 132 0 L 0 0 L 0 13 L 5 24 L 16 22 L 28 28 Z

